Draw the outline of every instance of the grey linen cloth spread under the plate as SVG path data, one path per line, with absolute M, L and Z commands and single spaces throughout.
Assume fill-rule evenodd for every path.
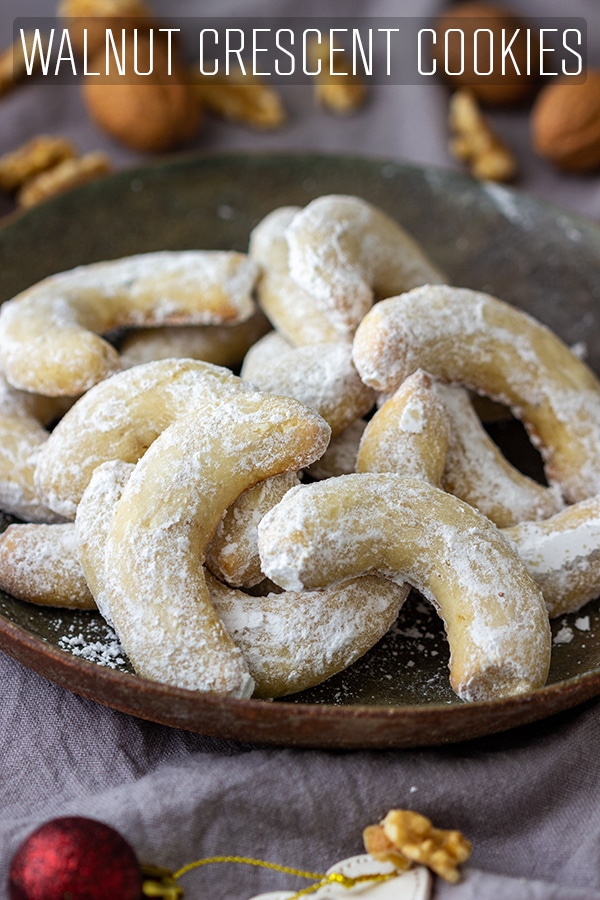
M 169 15 L 424 15 L 441 0 L 217 4 L 155 0 Z M 515 0 L 536 15 L 582 15 L 598 40 L 596 0 Z M 54 0 L 3 0 L 0 37 L 17 15 L 53 15 Z M 598 47 L 596 47 L 598 50 Z M 210 121 L 191 148 L 310 149 L 452 167 L 441 88 L 373 91 L 347 120 L 327 116 L 302 86 L 285 88 L 288 126 L 256 134 Z M 538 197 L 592 218 L 598 177 L 568 177 L 537 160 L 526 111 L 495 113 L 516 147 L 519 183 Z M 116 167 L 151 162 L 116 146 L 87 118 L 77 86 L 28 85 L 0 104 L 0 152 L 34 134 L 103 149 Z M 5 201 L 0 212 L 8 209 Z M 442 748 L 335 752 L 265 749 L 137 720 L 82 699 L 0 654 L 0 896 L 13 853 L 40 823 L 77 814 L 117 828 L 140 859 L 172 869 L 234 854 L 325 870 L 362 851 L 361 832 L 392 806 L 417 809 L 473 842 L 463 880 L 436 880 L 438 900 L 600 900 L 600 704 L 592 701 L 539 724 Z M 304 884 L 235 865 L 182 881 L 189 898 L 247 900 Z

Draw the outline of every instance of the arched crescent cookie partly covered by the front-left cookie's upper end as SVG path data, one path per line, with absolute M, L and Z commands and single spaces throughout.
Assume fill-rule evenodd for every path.
M 110 459 L 137 462 L 175 419 L 253 391 L 229 369 L 202 360 L 156 360 L 118 372 L 90 388 L 41 448 L 35 470 L 40 498 L 73 519 L 94 468 Z

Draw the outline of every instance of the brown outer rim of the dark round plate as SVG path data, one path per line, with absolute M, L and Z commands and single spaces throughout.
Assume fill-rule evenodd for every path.
M 320 161 L 325 160 L 328 163 L 343 160 L 346 164 L 357 163 L 360 165 L 373 166 L 394 166 L 398 171 L 415 172 L 415 173 L 434 173 L 436 177 L 445 180 L 454 181 L 470 185 L 471 188 L 481 186 L 470 175 L 454 169 L 446 169 L 441 166 L 419 165 L 417 163 L 407 162 L 394 159 L 391 157 L 380 157 L 375 155 L 356 155 L 351 153 L 327 153 L 313 151 L 296 151 L 296 150 L 278 150 L 274 152 L 254 151 L 238 151 L 227 153 L 189 153 L 181 154 L 176 159 L 163 158 L 154 160 L 151 163 L 134 164 L 130 167 L 124 167 L 105 176 L 103 182 L 107 179 L 113 184 L 127 183 L 135 178 L 143 178 L 152 175 L 168 175 L 169 170 L 183 170 L 186 167 L 203 167 L 218 163 L 220 167 L 230 166 L 232 163 L 240 164 L 248 162 L 252 159 L 260 159 L 266 161 L 285 161 L 287 163 L 298 162 L 302 160 Z M 59 208 L 63 204 L 71 204 L 77 202 L 77 197 L 93 193 L 94 186 L 97 182 L 91 182 L 81 185 L 69 194 L 59 195 L 44 202 L 43 207 L 48 208 L 54 206 Z M 544 198 L 527 194 L 518 188 L 510 186 L 497 186 L 515 199 L 517 203 L 533 204 L 536 209 L 542 209 L 546 215 L 556 217 L 560 216 L 565 221 L 575 224 L 589 234 L 593 240 L 600 240 L 600 224 L 586 216 L 564 209 L 552 201 Z M 37 214 L 37 208 L 24 211 L 15 211 L 6 216 L 0 223 L 0 240 L 7 230 L 13 226 L 19 226 L 25 217 L 32 217 Z M 566 678 L 552 684 L 547 684 L 535 691 L 527 694 L 517 695 L 513 697 L 503 698 L 500 700 L 475 701 L 470 703 L 449 702 L 449 703 L 429 703 L 402 706 L 384 706 L 384 705 L 336 705 L 331 703 L 294 703 L 285 699 L 277 700 L 275 703 L 258 699 L 237 699 L 224 698 L 218 695 L 201 694 L 187 690 L 185 688 L 177 688 L 170 685 L 162 684 L 150 679 L 140 678 L 137 675 L 127 672 L 110 669 L 97 663 L 76 657 L 66 650 L 46 642 L 43 638 L 37 637 L 24 627 L 15 623 L 12 619 L 0 613 L 0 650 L 6 652 L 19 662 L 22 662 L 31 671 L 35 671 L 49 681 L 59 684 L 61 687 L 70 690 L 72 693 L 87 697 L 111 709 L 133 715 L 137 718 L 148 719 L 160 725 L 166 725 L 173 728 L 181 728 L 186 731 L 192 731 L 199 734 L 211 735 L 213 737 L 225 737 L 237 741 L 258 743 L 260 745 L 275 746 L 293 746 L 306 748 L 340 748 L 340 749 L 390 749 L 402 747 L 429 747 L 439 746 L 441 744 L 457 743 L 463 740 L 471 740 L 473 738 L 485 737 L 499 732 L 511 730 L 521 725 L 527 725 L 541 719 L 549 718 L 557 713 L 567 709 L 574 708 L 586 701 L 600 695 L 600 663 L 598 667 L 590 669 L 586 672 L 579 673 L 571 678 Z M 23 662 L 26 659 L 27 662 Z M 39 665 L 33 664 L 33 661 L 40 661 Z M 51 668 L 43 661 L 51 661 Z M 75 688 L 69 684 L 70 675 L 76 671 L 81 673 L 85 686 L 84 688 Z M 48 674 L 50 672 L 50 674 Z M 92 675 L 94 677 L 92 677 Z M 89 676 L 89 677 L 88 677 Z M 142 710 L 132 711 L 126 708 L 127 704 L 119 701 L 111 701 L 105 697 L 98 696 L 91 685 L 91 682 L 106 682 L 110 686 L 123 689 L 127 692 L 131 688 L 135 693 L 149 695 L 153 698 L 178 698 L 186 707 L 196 707 L 200 712 L 202 708 L 205 711 L 214 714 L 222 712 L 223 704 L 234 714 L 237 713 L 240 718 L 240 727 L 236 729 L 235 723 L 231 723 L 225 728 L 224 733 L 221 729 L 215 730 L 211 727 L 204 726 L 202 722 L 185 722 L 178 721 L 162 721 L 152 716 L 144 715 Z M 89 685 L 89 686 L 88 686 Z M 258 738 L 252 736 L 252 723 L 256 720 L 257 715 L 261 711 L 276 709 L 277 713 L 273 717 L 274 726 L 263 731 Z M 550 712 L 548 712 L 550 709 Z M 461 712 L 462 711 L 462 712 Z M 495 725 L 490 728 L 477 727 L 477 719 L 483 718 L 482 713 L 497 713 Z M 294 729 L 294 735 L 282 737 L 278 733 L 278 723 L 281 719 L 286 718 L 296 720 L 303 718 L 310 719 L 319 724 L 319 722 L 331 722 L 334 725 L 339 722 L 347 722 L 352 719 L 355 723 L 360 723 L 360 732 L 356 736 L 340 736 L 334 729 L 332 735 L 315 736 L 313 733 L 302 734 L 298 728 Z M 422 721 L 429 723 L 434 718 L 441 720 L 444 724 L 446 720 L 453 721 L 458 727 L 448 730 L 446 734 L 431 735 L 427 739 L 419 738 L 412 729 L 413 723 L 417 725 Z M 474 721 L 471 722 L 470 720 Z M 505 721 L 503 721 L 505 719 Z M 471 727 L 460 727 L 463 720 L 466 725 Z M 382 737 L 379 732 L 369 735 L 365 728 L 374 723 L 382 723 L 383 725 L 394 725 L 393 734 L 388 735 L 387 739 Z M 403 726 L 406 726 L 406 733 L 403 734 Z M 208 730 L 206 730 L 208 728 Z M 250 729 L 250 730 L 248 730 Z M 418 729 L 417 729 L 418 730 Z

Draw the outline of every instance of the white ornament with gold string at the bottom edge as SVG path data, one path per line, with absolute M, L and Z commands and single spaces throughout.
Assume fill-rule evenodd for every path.
M 359 875 L 386 874 L 393 871 L 394 867 L 389 863 L 378 862 L 368 853 L 363 853 L 361 856 L 351 856 L 336 863 L 329 869 L 327 875 L 341 872 L 349 878 L 356 878 Z M 308 896 L 314 897 L 315 900 L 341 900 L 343 897 L 364 897 L 365 900 L 428 900 L 431 896 L 431 884 L 429 869 L 416 866 L 407 872 L 398 872 L 394 878 L 387 881 L 363 881 L 351 888 L 335 883 L 326 884 Z M 250 900 L 289 900 L 295 894 L 296 891 L 274 891 L 270 894 L 257 894 Z

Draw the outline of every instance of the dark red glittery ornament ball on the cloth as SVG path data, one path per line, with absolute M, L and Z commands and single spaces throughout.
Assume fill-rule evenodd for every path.
M 11 900 L 140 900 L 142 872 L 118 831 L 64 816 L 34 831 L 10 866 Z

